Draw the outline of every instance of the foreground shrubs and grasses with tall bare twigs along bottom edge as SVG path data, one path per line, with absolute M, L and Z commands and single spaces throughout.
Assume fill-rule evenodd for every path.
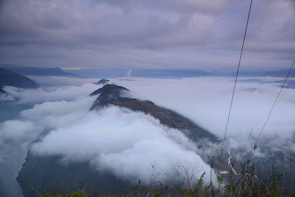
M 214 159 L 214 157 L 213 157 Z M 255 175 L 255 164 L 250 164 L 250 160 L 247 160 L 245 164 L 241 166 L 242 171 L 240 174 L 235 173 L 229 175 L 227 180 L 223 175 L 218 174 L 216 178 L 213 178 L 213 172 L 210 172 L 210 180 L 205 179 L 206 173 L 204 172 L 199 179 L 196 178 L 196 174 L 200 171 L 198 160 L 188 161 L 187 159 L 178 160 L 174 165 L 182 171 L 183 187 L 171 186 L 165 181 L 154 182 L 154 177 L 163 175 L 163 171 L 157 171 L 157 160 L 151 162 L 151 166 L 154 171 L 151 175 L 151 182 L 149 185 L 142 185 L 141 180 L 138 180 L 136 185 L 129 185 L 125 187 L 121 185 L 122 190 L 119 193 L 102 194 L 99 190 L 93 190 L 92 192 L 85 192 L 85 190 L 74 190 L 69 193 L 63 193 L 56 189 L 46 191 L 45 195 L 40 195 L 36 192 L 38 197 L 292 197 L 295 196 L 294 188 L 287 188 L 283 184 L 283 177 L 287 175 L 278 174 L 276 167 L 272 166 L 271 170 L 263 178 L 259 177 L 259 174 Z M 213 160 L 211 167 L 213 165 Z M 233 165 L 233 164 L 232 164 Z M 212 168 L 211 168 L 212 169 Z M 294 170 L 295 168 L 293 168 Z

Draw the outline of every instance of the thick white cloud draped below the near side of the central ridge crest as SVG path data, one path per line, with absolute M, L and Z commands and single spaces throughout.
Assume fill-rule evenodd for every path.
M 99 170 L 108 169 L 124 179 L 141 179 L 145 183 L 152 174 L 148 161 L 157 156 L 163 156 L 160 167 L 170 173 L 177 170 L 172 164 L 186 157 L 191 161 L 198 158 L 201 173 L 209 172 L 209 165 L 196 150 L 196 145 L 176 129 L 142 112 L 115 106 L 89 112 L 81 121 L 52 131 L 32 146 L 38 154 L 62 155 L 64 162 L 91 161 Z

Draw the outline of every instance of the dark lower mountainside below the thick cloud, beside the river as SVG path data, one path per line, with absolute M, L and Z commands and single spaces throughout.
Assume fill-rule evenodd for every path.
M 45 127 L 33 143 L 41 141 L 51 130 Z M 62 164 L 61 156 L 33 155 L 30 149 L 25 160 L 16 178 L 25 197 L 36 196 L 36 191 L 45 194 L 46 190 L 53 188 L 64 192 L 80 188 L 86 193 L 94 189 L 101 193 L 115 193 L 121 191 L 120 184 L 130 184 L 117 179 L 110 171 L 97 171 L 89 162 Z

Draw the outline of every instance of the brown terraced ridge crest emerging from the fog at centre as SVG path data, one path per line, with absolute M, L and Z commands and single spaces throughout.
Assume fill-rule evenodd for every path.
M 102 88 L 90 94 L 90 96 L 93 96 L 100 93 L 99 97 L 97 97 L 97 99 L 94 101 L 94 105 L 90 110 L 103 107 L 107 104 L 118 105 L 150 114 L 151 116 L 159 119 L 162 124 L 166 124 L 169 127 L 178 128 L 185 131 L 187 137 L 192 140 L 197 140 L 198 138 L 208 138 L 211 141 L 216 141 L 216 136 L 194 124 L 188 118 L 185 118 L 170 109 L 159 107 L 148 100 L 144 101 L 135 98 L 124 97 L 122 96 L 124 95 L 124 91 L 129 90 L 114 84 L 104 85 Z

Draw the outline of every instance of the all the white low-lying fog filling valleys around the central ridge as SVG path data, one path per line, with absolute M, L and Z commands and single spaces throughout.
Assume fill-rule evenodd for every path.
M 212 157 L 215 150 L 203 152 L 181 132 L 161 125 L 149 115 L 114 106 L 89 112 L 98 95 L 88 95 L 103 86 L 92 84 L 100 79 L 30 78 L 39 84 L 52 83 L 52 86 L 36 90 L 6 86 L 4 90 L 9 95 L 0 97 L 6 108 L 17 108 L 22 104 L 32 106 L 0 123 L 0 166 L 6 169 L 0 174 L 1 196 L 16 196 L 21 191 L 14 179 L 25 162 L 23 159 L 31 142 L 47 125 L 55 129 L 42 142 L 34 144 L 32 150 L 36 154 L 62 155 L 65 164 L 89 161 L 99 169 L 112 170 L 119 177 L 148 182 L 152 171 L 150 160 L 160 156 L 160 167 L 175 173 L 177 169 L 173 164 L 177 159 L 187 157 L 199 159 L 200 173 L 210 172 L 210 166 L 199 155 Z M 234 78 L 162 80 L 128 77 L 110 80 L 131 90 L 131 97 L 151 100 L 156 105 L 175 110 L 223 138 Z M 279 85 L 282 84 L 269 81 L 277 80 L 271 77 L 238 78 L 226 132 L 225 148 L 229 151 L 238 154 L 236 150 L 244 148 L 253 129 L 246 154 L 252 149 L 281 89 Z M 295 152 L 294 97 L 295 89 L 286 89 L 279 97 L 280 102 L 259 138 L 268 139 L 273 147 L 288 149 L 292 154 Z M 219 149 L 219 145 L 216 148 Z M 267 157 L 265 152 L 259 151 L 259 146 L 257 156 Z

